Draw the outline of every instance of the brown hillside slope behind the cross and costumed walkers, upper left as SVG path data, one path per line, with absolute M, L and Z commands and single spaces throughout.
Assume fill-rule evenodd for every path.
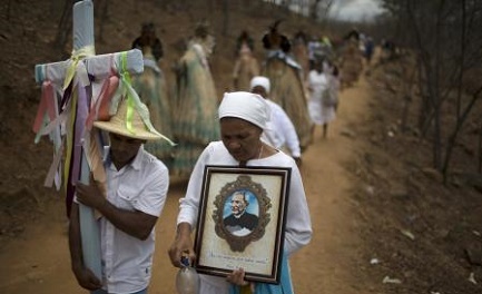
M 69 21 L 61 21 L 65 2 L 3 1 L 0 4 L 0 24 L 4 28 L 0 33 L 0 202 L 4 204 L 0 223 L 4 232 L 21 231 L 23 214 L 30 215 L 51 198 L 52 190 L 42 188 L 51 161 L 51 146 L 47 138 L 35 145 L 31 131 L 41 94 L 35 82 L 33 69 L 37 63 L 69 58 L 71 28 Z M 248 30 L 257 40 L 255 50 L 260 58 L 260 38 L 275 20 L 266 16 L 275 16 L 277 10 L 260 1 L 233 1 L 226 20 L 220 1 L 184 2 L 95 1 L 96 53 L 129 50 L 141 23 L 151 21 L 165 47 L 160 66 L 168 86 L 174 87 L 173 66 L 183 52 L 181 45 L 193 36 L 196 23 L 207 20 L 216 37 L 212 70 L 218 97 L 222 97 L 232 87 L 235 38 L 243 29 Z M 283 12 L 278 16 L 289 18 Z M 304 21 L 298 18 L 286 20 L 282 28 L 293 35 Z M 309 27 L 307 23 L 303 26 Z M 66 48 L 55 46 L 59 27 L 68 29 Z

